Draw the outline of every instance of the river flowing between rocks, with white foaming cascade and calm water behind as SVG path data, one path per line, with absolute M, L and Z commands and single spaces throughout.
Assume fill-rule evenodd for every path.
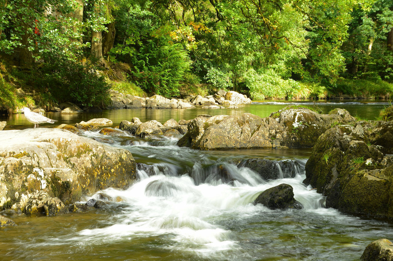
M 53 118 L 73 124 L 94 117 L 107 117 L 114 125 L 132 117 L 163 123 L 202 113 L 251 112 L 266 117 L 286 105 L 251 104 L 238 110 L 108 110 L 75 117 L 54 113 Z M 375 119 L 386 104 L 318 106 L 323 112 L 340 107 Z M 32 127 L 23 116 L 8 119 L 8 128 Z M 89 131 L 84 135 L 107 137 Z M 371 241 L 393 238 L 390 221 L 325 208 L 323 196 L 304 186 L 310 149 L 197 151 L 177 147 L 175 139 L 110 139 L 114 141 L 110 146 L 132 152 L 139 166 L 138 181 L 127 190 L 103 190 L 112 202 L 88 213 L 9 215 L 18 226 L 1 228 L 2 260 L 356 260 Z M 242 161 L 255 157 L 276 161 L 281 179 L 265 181 L 242 167 Z M 295 174 L 293 178 L 290 173 Z M 281 183 L 293 186 L 303 209 L 270 210 L 252 204 L 259 193 Z M 98 194 L 81 203 L 90 198 Z

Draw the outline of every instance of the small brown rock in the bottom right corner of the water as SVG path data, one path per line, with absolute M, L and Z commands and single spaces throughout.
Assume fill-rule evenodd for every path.
M 393 243 L 379 239 L 370 243 L 360 257 L 362 261 L 393 261 Z

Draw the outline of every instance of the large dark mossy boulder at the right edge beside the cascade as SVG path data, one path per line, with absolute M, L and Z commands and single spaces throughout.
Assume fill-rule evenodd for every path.
M 357 122 L 327 130 L 306 164 L 306 184 L 326 206 L 351 214 L 393 217 L 393 122 Z

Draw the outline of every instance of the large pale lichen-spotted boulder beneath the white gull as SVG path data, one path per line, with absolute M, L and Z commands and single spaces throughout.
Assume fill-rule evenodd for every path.
M 104 188 L 127 188 L 136 179 L 135 161 L 128 150 L 70 131 L 2 131 L 0 144 L 2 209 L 23 211 L 39 190 L 69 204 Z

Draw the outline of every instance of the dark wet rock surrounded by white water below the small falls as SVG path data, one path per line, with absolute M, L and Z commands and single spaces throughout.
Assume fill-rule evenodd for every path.
M 279 184 L 273 188 L 269 188 L 259 194 L 254 201 L 255 204 L 263 204 L 270 209 L 285 210 L 288 208 L 301 209 L 303 206 L 299 201 L 294 199 L 292 186 L 288 184 Z

